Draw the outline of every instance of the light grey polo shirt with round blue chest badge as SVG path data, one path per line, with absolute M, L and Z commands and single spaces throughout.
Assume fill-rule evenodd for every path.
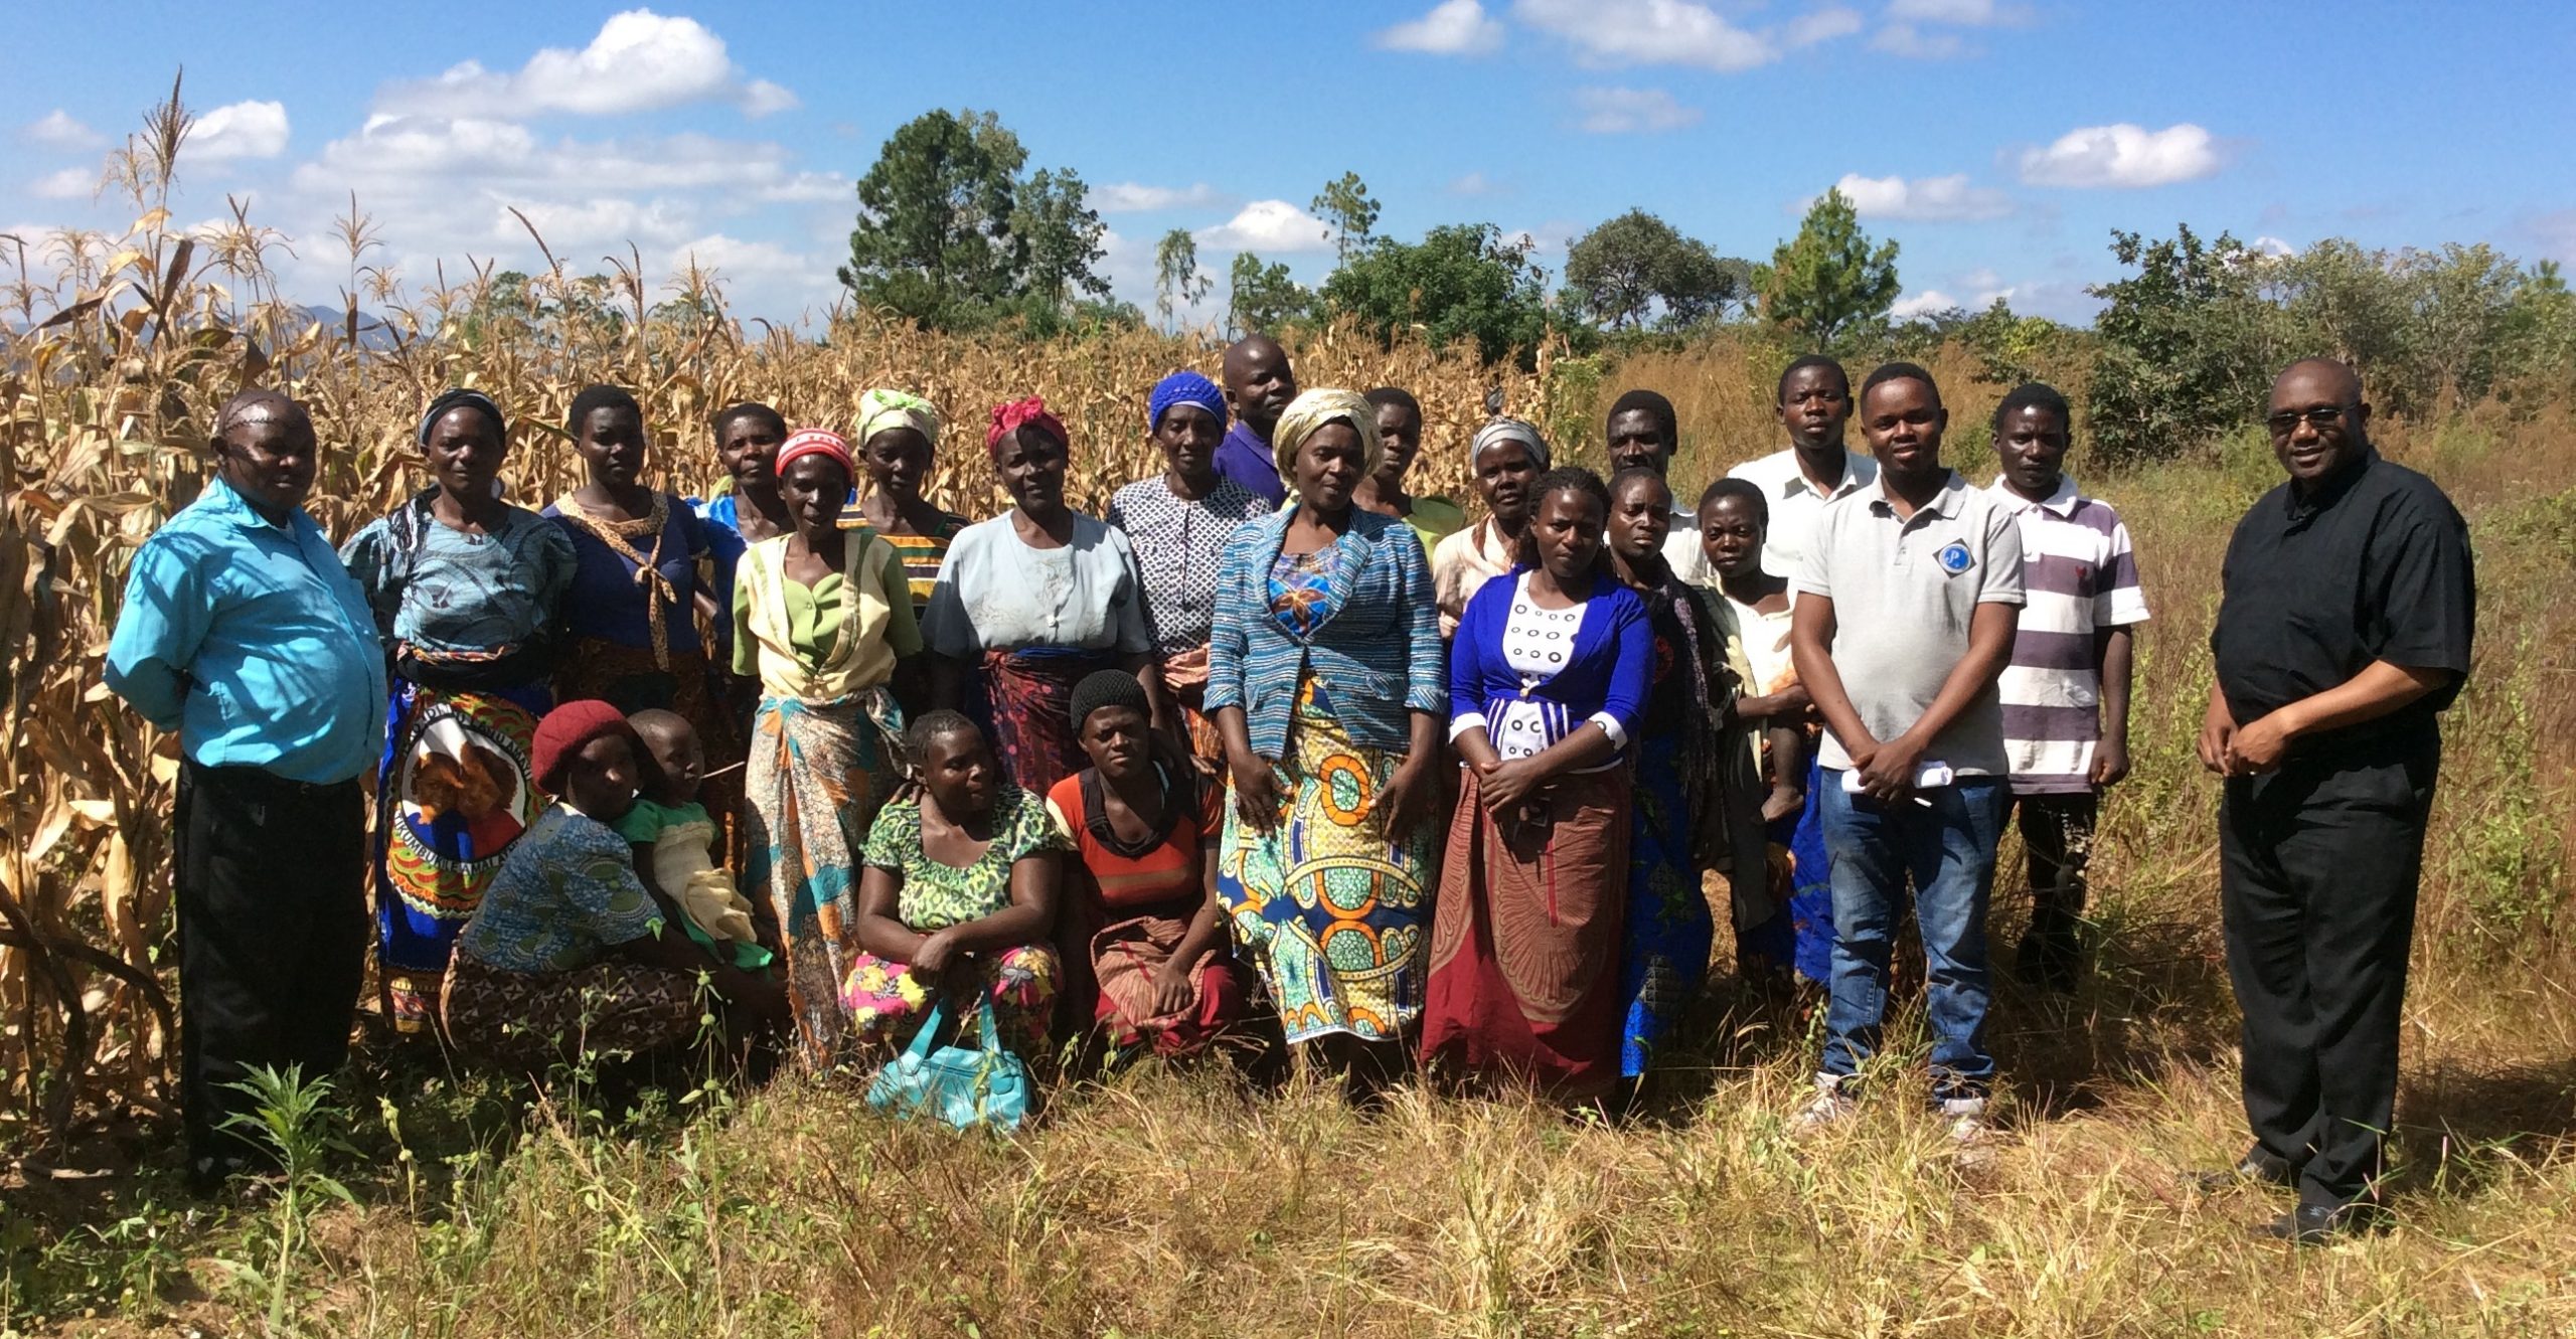
M 1837 497 L 1816 518 L 1795 587 L 1834 600 L 1834 670 L 1875 739 L 1914 729 L 1940 698 L 1940 685 L 1968 654 L 1976 605 L 2022 605 L 2022 530 L 1994 494 L 1958 471 L 1906 520 L 1896 520 L 1886 484 Z M 1824 731 L 1826 767 L 1850 767 L 1834 731 Z M 2004 708 L 1989 682 L 1950 721 L 1924 762 L 1958 775 L 2007 775 Z

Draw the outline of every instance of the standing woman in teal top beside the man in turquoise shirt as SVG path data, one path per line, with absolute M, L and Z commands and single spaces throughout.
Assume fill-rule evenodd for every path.
M 376 953 L 386 1015 L 428 1027 L 448 950 L 500 852 L 541 809 L 528 739 L 554 706 L 572 538 L 500 500 L 510 427 L 482 391 L 420 415 L 430 487 L 340 548 L 392 662 L 376 791 Z

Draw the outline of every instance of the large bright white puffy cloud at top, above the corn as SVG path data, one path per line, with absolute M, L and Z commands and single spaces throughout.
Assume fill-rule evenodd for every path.
M 433 116 L 536 116 L 569 111 L 618 116 L 688 103 L 734 103 L 744 116 L 796 106 L 768 80 L 747 80 L 724 39 L 696 18 L 626 10 L 600 23 L 590 46 L 546 46 L 515 75 L 464 62 L 433 80 L 399 80 L 376 93 L 376 111 Z

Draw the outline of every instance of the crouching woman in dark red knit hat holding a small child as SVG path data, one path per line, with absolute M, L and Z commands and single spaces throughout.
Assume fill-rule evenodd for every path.
M 459 1051 L 544 1069 L 698 1040 L 698 989 L 714 994 L 732 1056 L 786 1027 L 786 989 L 719 963 L 680 932 L 680 912 L 636 878 L 611 827 L 636 803 L 634 726 L 574 700 L 536 726 L 536 783 L 554 806 L 510 845 L 456 940 L 440 1012 Z

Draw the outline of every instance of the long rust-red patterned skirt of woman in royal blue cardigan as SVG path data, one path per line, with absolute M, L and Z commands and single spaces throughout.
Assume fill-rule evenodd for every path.
M 1528 814 L 1489 814 L 1461 767 L 1432 919 L 1422 1056 L 1551 1097 L 1618 1079 L 1628 767 L 1551 783 Z

